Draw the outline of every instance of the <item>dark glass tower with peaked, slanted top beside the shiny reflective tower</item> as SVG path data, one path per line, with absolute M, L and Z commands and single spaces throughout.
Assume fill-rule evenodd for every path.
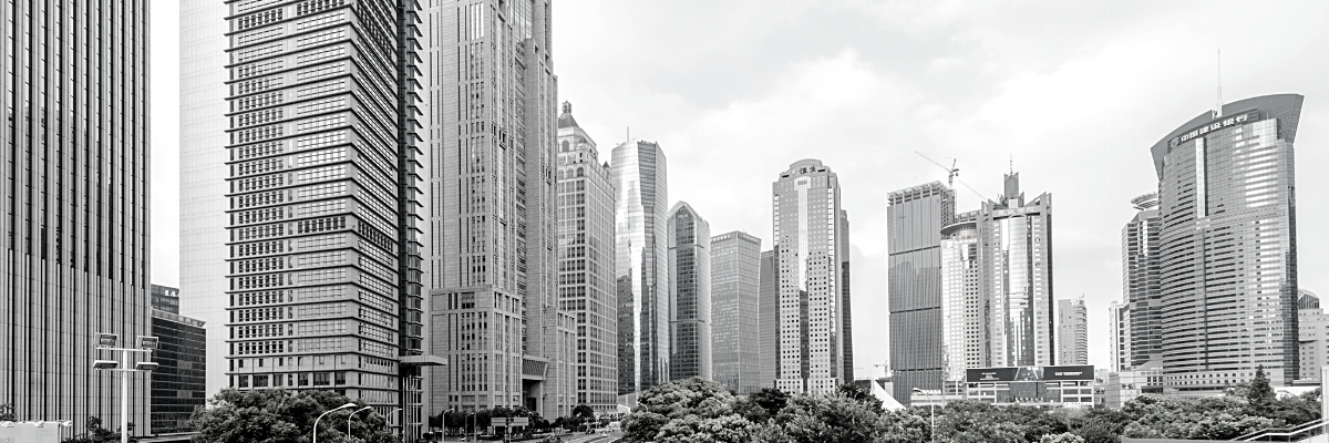
M 668 213 L 670 379 L 711 378 L 711 225 L 686 201 Z

